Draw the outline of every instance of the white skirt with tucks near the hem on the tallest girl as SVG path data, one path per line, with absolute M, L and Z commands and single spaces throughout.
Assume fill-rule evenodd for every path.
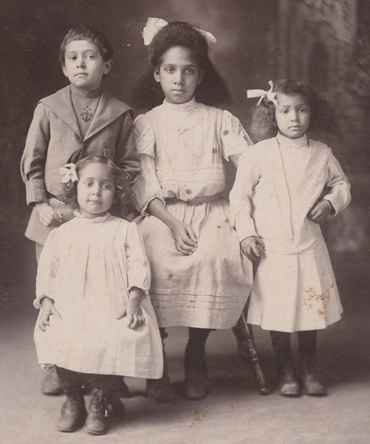
M 167 225 L 154 216 L 138 222 L 151 269 L 150 297 L 159 327 L 227 329 L 236 324 L 252 288 L 252 265 L 229 224 L 220 196 L 197 201 L 169 199 L 168 212 L 189 224 L 198 248 L 176 250 Z

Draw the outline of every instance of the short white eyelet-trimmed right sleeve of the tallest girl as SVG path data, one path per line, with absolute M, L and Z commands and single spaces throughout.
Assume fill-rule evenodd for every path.
M 252 145 L 252 139 L 248 136 L 239 119 L 229 111 L 222 111 L 220 132 L 222 157 L 231 160 L 237 167 L 240 154 Z

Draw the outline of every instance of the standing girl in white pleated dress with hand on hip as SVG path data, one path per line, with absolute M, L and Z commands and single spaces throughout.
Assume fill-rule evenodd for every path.
M 282 395 L 325 395 L 315 363 L 317 330 L 337 322 L 342 306 L 320 223 L 346 208 L 351 195 L 331 148 L 308 139 L 306 131 L 331 129 L 333 112 L 311 87 L 293 79 L 248 93 L 261 97 L 253 112 L 259 134 L 278 129 L 276 137 L 240 157 L 230 193 L 241 250 L 259 259 L 248 322 L 271 331 Z M 293 332 L 299 377 L 292 365 Z

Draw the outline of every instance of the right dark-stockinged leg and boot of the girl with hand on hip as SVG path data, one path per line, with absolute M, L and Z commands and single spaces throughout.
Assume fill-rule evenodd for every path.
M 310 396 L 326 396 L 320 369 L 315 362 L 317 331 L 298 332 L 300 380 L 303 392 Z

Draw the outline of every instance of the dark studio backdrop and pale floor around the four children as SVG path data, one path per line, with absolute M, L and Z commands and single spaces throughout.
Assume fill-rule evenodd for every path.
M 339 126 L 325 141 L 349 177 L 353 200 L 323 231 L 345 311 L 342 321 L 320 333 L 319 359 L 331 392 L 324 401 L 305 397 L 292 404 L 276 394 L 260 397 L 251 373 L 245 388 L 240 382 L 243 371 L 235 370 L 231 332 L 215 332 L 208 344 L 214 390 L 205 402 L 158 406 L 142 396 L 142 382 L 131 382 L 130 387 L 141 393 L 129 400 L 137 403 L 128 408 L 131 425 L 117 421 L 101 442 L 368 442 L 364 414 L 370 402 L 370 5 L 366 0 L 1 1 L 1 442 L 89 440 L 81 431 L 73 436 L 57 434 L 62 400 L 39 393 L 40 370 L 32 340 L 36 263 L 34 246 L 23 236 L 30 208 L 25 204 L 19 163 L 37 101 L 68 84 L 58 61 L 68 29 L 88 24 L 108 37 L 114 63 L 105 86 L 134 106 L 132 86 L 147 66 L 141 31 L 148 17 L 188 21 L 217 37 L 211 58 L 232 95 L 232 103 L 224 108 L 247 131 L 256 100 L 247 101 L 245 91 L 268 89 L 271 78 L 305 80 L 333 105 Z M 137 115 L 145 110 L 134 111 Z M 227 170 L 230 187 L 234 171 Z M 172 330 L 170 375 L 178 382 L 183 378 L 185 329 Z M 268 336 L 258 328 L 255 333 L 262 363 L 270 369 Z M 248 397 L 244 399 L 241 390 L 247 390 Z M 233 406 L 232 414 L 225 405 Z M 347 408 L 354 410 L 347 415 Z M 135 414 L 130 416 L 130 411 Z M 301 414 L 291 420 L 287 411 Z M 134 417 L 140 419 L 137 424 Z M 152 428 L 156 433 L 148 435 Z

